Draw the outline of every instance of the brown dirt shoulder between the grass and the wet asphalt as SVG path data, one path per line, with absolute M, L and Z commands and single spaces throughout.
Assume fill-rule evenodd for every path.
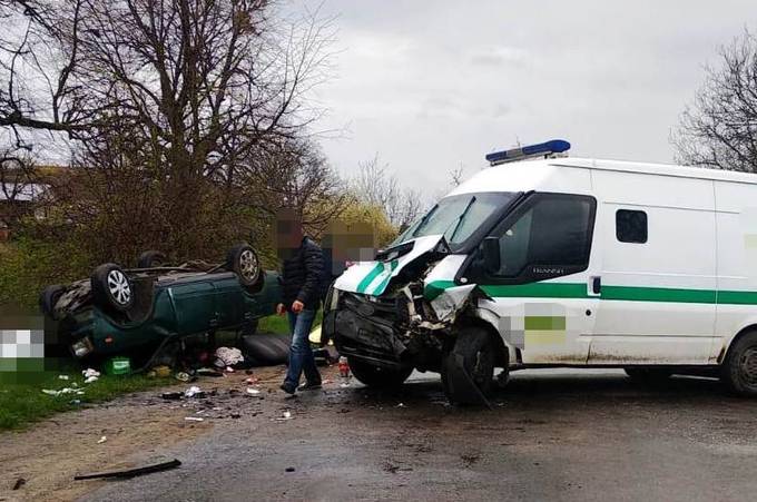
M 75 482 L 76 474 L 134 467 L 131 457 L 155 454 L 191 441 L 219 421 L 259 414 L 265 396 L 281 383 L 283 367 L 255 370 L 224 377 L 200 377 L 191 384 L 129 394 L 85 410 L 56 415 L 27 431 L 0 433 L 0 501 L 75 500 L 105 481 Z M 258 382 L 248 385 L 247 378 Z M 205 398 L 168 401 L 164 392 L 197 385 Z M 247 387 L 259 394 L 247 393 Z M 204 421 L 186 421 L 185 417 Z M 106 441 L 98 441 L 106 436 Z M 19 479 L 26 483 L 12 490 Z

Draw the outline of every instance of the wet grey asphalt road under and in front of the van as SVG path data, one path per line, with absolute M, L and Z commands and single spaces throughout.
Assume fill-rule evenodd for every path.
M 445 405 L 435 376 L 391 394 L 268 394 L 254 419 L 160 452 L 180 469 L 85 500 L 757 498 L 757 401 L 715 381 L 652 390 L 622 372 L 521 372 L 485 411 Z M 273 420 L 286 410 L 291 420 Z

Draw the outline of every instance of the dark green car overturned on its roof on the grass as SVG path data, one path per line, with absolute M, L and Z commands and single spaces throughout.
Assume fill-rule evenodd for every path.
M 217 265 L 169 266 L 159 252 L 146 252 L 136 268 L 104 264 L 88 279 L 42 292 L 46 354 L 149 355 L 190 335 L 249 334 L 279 301 L 278 274 L 262 270 L 247 244 Z

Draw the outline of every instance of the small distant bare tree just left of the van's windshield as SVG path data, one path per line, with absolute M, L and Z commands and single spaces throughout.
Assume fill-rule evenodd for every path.
M 390 222 L 400 229 L 406 228 L 423 209 L 423 197 L 417 189 L 402 188 L 389 165 L 381 164 L 378 155 L 360 163 L 353 190 L 361 201 L 384 209 Z

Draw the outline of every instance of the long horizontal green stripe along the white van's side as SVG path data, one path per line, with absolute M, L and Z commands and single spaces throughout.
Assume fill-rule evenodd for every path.
M 426 297 L 436 297 L 452 280 L 434 280 L 426 285 Z M 757 292 L 717 292 L 715 289 L 681 289 L 667 287 L 602 286 L 601 296 L 589 296 L 586 284 L 532 283 L 519 285 L 482 285 L 481 289 L 494 298 L 597 298 L 608 302 L 658 302 L 720 305 L 757 305 Z

